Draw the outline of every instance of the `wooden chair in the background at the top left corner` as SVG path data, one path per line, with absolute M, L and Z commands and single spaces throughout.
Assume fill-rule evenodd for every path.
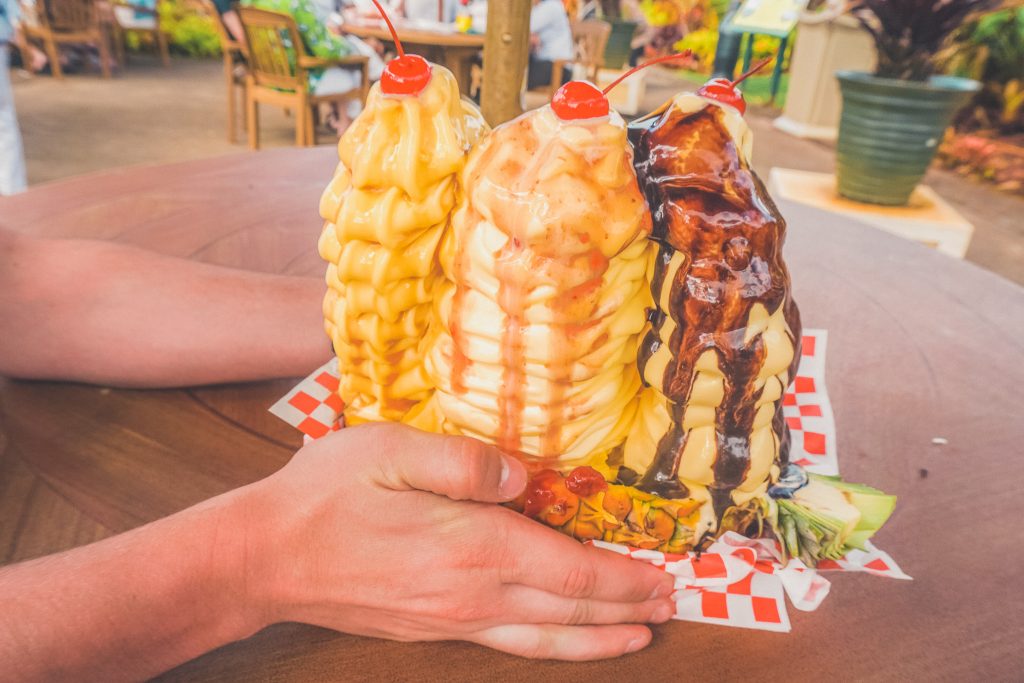
M 99 70 L 111 77 L 111 49 L 99 24 L 93 0 L 39 0 L 36 26 L 24 24 L 28 39 L 39 40 L 50 60 L 53 77 L 62 79 L 58 45 L 94 43 L 99 48 Z

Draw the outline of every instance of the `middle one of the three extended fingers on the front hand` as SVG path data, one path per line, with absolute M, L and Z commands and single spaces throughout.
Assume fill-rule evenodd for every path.
M 524 624 L 663 624 L 676 613 L 676 605 L 669 598 L 607 602 L 566 598 L 519 585 L 506 587 L 502 604 L 507 605 L 503 612 L 506 621 Z

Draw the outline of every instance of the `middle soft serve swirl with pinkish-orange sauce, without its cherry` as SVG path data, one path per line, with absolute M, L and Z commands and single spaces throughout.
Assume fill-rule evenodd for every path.
M 651 304 L 649 216 L 622 119 L 550 106 L 496 129 L 441 247 L 427 368 L 444 431 L 559 466 L 621 445 Z

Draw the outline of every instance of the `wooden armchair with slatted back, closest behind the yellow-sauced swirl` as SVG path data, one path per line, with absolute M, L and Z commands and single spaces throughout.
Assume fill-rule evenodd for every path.
M 249 43 L 246 113 L 250 148 L 259 148 L 258 105 L 261 102 L 284 108 L 286 112 L 295 110 L 295 144 L 308 146 L 316 141 L 313 112 L 318 104 L 344 102 L 354 97 L 366 101 L 370 90 L 369 59 L 366 56 L 325 59 L 307 54 L 291 14 L 240 7 L 239 16 Z M 330 95 L 310 92 L 309 71 L 331 67 L 358 72 L 359 86 Z

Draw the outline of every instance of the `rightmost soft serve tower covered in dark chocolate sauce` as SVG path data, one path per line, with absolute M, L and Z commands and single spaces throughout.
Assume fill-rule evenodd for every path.
M 785 222 L 750 168 L 734 106 L 681 94 L 633 133 L 658 255 L 624 466 L 641 488 L 710 499 L 721 516 L 764 495 L 788 455 L 782 394 L 801 328 Z

